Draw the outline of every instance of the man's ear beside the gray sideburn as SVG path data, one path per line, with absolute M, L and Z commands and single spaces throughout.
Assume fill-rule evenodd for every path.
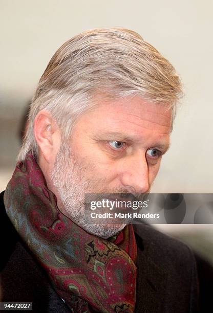
M 42 156 L 46 162 L 52 163 L 60 148 L 60 130 L 55 119 L 46 111 L 41 110 L 34 120 L 34 136 Z

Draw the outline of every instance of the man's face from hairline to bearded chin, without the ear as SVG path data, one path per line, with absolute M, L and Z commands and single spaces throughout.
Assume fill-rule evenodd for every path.
M 171 109 L 140 97 L 99 101 L 74 126 L 70 155 L 58 153 L 51 178 L 61 211 L 89 233 L 110 237 L 123 224 L 84 218 L 84 193 L 147 193 L 169 145 Z

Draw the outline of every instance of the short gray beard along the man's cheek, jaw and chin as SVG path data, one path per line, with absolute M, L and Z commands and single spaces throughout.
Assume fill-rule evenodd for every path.
M 107 193 L 106 190 L 94 190 L 94 187 L 103 186 L 105 178 L 102 180 L 88 180 L 84 176 L 88 170 L 92 172 L 91 166 L 82 165 L 76 162 L 70 153 L 60 151 L 57 154 L 53 170 L 51 172 L 51 182 L 57 190 L 63 214 L 75 222 L 86 232 L 102 238 L 109 238 L 119 233 L 132 219 L 125 219 L 124 223 L 93 224 L 84 214 L 84 194 L 85 193 Z

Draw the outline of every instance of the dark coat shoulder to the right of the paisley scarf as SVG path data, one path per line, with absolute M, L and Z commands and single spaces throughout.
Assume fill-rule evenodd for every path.
M 148 299 L 146 307 L 153 312 L 197 312 L 199 283 L 191 249 L 150 225 L 134 225 L 134 230 L 138 247 L 138 290 L 143 289 L 144 282 L 146 290 L 149 285 L 154 289 L 149 293 L 153 294 L 155 306 L 151 307 Z M 144 299 L 145 293 L 138 298 L 138 308 L 143 307 Z

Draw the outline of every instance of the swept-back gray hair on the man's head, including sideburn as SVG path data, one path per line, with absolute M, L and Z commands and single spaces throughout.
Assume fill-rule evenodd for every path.
M 41 76 L 17 160 L 24 161 L 28 152 L 38 155 L 33 126 L 40 110 L 51 113 L 66 143 L 77 117 L 94 104 L 96 95 L 104 99 L 139 95 L 169 104 L 175 116 L 182 91 L 173 65 L 136 32 L 121 28 L 83 32 L 55 52 Z

